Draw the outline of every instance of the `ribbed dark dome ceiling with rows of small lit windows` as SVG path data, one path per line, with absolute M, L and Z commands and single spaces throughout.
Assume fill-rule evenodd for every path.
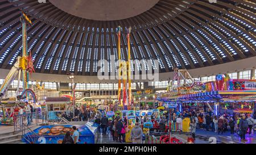
M 142 1 L 144 2 L 144 1 Z M 212 2 L 212 1 L 211 1 Z M 0 0 L 0 67 L 10 69 L 22 53 L 21 10 L 30 16 L 28 50 L 38 73 L 95 76 L 117 70 L 117 27 L 121 58 L 127 60 L 126 30 L 131 27 L 131 59 L 159 61 L 160 73 L 201 68 L 256 56 L 256 1 L 160 0 L 151 9 L 121 20 L 89 20 L 51 2 Z M 118 14 L 118 12 L 117 12 Z M 158 67 L 158 66 L 156 66 Z M 132 70 L 139 68 L 135 61 Z

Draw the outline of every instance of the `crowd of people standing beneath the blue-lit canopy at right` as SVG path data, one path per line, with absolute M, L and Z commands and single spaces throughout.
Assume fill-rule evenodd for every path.
M 171 121 L 179 124 L 179 129 L 182 130 L 182 120 L 189 118 L 191 121 L 190 130 L 192 137 L 195 140 L 195 133 L 197 129 L 204 129 L 205 131 L 212 131 L 223 135 L 223 133 L 230 130 L 230 135 L 234 136 L 237 134 L 241 137 L 241 141 L 247 141 L 245 139 L 246 133 L 249 135 L 253 134 L 254 131 L 254 119 L 251 118 L 251 114 L 235 114 L 235 115 L 214 115 L 211 111 L 205 112 L 204 114 L 193 110 L 193 111 L 179 111 L 171 112 Z

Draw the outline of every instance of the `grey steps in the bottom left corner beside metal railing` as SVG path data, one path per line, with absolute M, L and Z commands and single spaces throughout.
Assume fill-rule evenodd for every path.
M 6 132 L 0 134 L 0 144 L 22 144 L 21 133 Z

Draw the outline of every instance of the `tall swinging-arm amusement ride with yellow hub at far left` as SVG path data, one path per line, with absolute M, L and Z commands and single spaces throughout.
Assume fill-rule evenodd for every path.
M 11 68 L 9 74 L 7 74 L 5 81 L 3 82 L 0 88 L 0 93 L 1 93 L 1 98 L 5 97 L 6 91 L 9 89 L 9 86 L 18 75 L 17 98 L 15 100 L 17 101 L 18 99 L 31 98 L 35 103 L 36 102 L 35 93 L 33 90 L 28 88 L 29 76 L 31 76 L 32 72 L 35 72 L 31 52 L 28 53 L 27 51 L 27 25 L 31 26 L 32 22 L 23 11 L 22 11 L 22 16 L 20 20 L 22 22 L 22 56 L 21 57 L 18 56 L 14 66 Z M 21 94 L 19 94 L 19 82 L 20 82 L 21 73 L 22 73 L 22 79 L 23 79 L 23 91 Z M 15 107 L 17 104 L 13 104 L 13 103 L 8 104 L 8 102 L 7 104 L 1 103 L 1 108 L 3 111 L 3 119 L 1 120 L 1 122 L 6 122 L 6 119 L 8 119 L 6 118 L 5 111 L 6 111 L 6 108 L 11 107 L 11 105 Z

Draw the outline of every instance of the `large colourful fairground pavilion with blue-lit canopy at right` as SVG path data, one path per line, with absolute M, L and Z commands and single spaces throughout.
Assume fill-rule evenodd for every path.
M 177 103 L 180 111 L 183 107 L 206 112 L 205 106 L 210 105 L 216 115 L 252 113 L 256 101 L 256 80 L 230 79 L 228 74 L 221 74 L 216 76 L 216 81 L 195 87 L 180 87 L 160 95 L 158 99 L 165 103 Z

